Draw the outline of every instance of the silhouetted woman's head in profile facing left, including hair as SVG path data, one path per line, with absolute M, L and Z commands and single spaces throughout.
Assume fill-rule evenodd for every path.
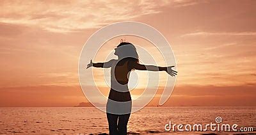
M 115 55 L 118 56 L 119 59 L 124 58 L 135 58 L 136 60 L 139 59 L 138 53 L 134 45 L 129 42 L 121 42 L 115 48 Z

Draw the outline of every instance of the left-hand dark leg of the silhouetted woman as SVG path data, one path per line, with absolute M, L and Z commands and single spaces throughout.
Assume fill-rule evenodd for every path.
M 118 131 L 117 131 L 118 115 L 107 113 L 107 118 L 108 118 L 109 134 L 110 135 L 117 135 L 118 134 Z

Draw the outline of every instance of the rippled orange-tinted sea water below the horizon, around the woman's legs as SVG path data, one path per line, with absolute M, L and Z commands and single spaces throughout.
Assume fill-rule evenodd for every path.
M 240 127 L 253 127 L 256 132 L 256 107 L 145 107 L 132 113 L 128 123 L 130 133 L 184 133 L 165 131 L 166 124 L 237 124 Z M 207 128 L 209 129 L 209 128 Z M 186 131 L 205 133 L 213 131 Z M 224 131 L 214 131 L 215 133 Z M 0 108 L 0 134 L 88 134 L 108 133 L 106 113 L 95 107 L 8 107 Z M 241 132 L 225 132 L 241 133 Z M 248 133 L 248 132 L 243 132 Z

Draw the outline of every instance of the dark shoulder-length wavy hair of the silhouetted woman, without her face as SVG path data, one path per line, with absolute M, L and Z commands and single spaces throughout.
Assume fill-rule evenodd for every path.
M 124 61 L 129 61 L 129 67 L 131 67 L 131 64 L 134 65 L 134 63 L 139 63 L 139 56 L 138 52 L 136 50 L 136 47 L 129 43 L 129 42 L 121 42 L 117 47 L 120 47 L 120 55 L 123 58 Z M 121 61 L 123 61 L 121 60 Z M 120 62 L 121 62 L 120 61 Z M 131 67 L 131 69 L 134 69 Z

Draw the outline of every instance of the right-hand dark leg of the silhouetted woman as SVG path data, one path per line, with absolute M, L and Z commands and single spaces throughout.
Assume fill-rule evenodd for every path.
M 125 115 L 119 115 L 118 118 L 118 134 L 123 135 L 127 134 L 127 123 L 130 118 L 130 113 Z

